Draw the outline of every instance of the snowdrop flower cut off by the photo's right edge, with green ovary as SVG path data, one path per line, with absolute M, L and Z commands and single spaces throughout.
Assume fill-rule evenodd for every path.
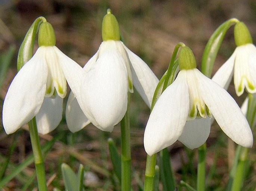
M 228 89 L 234 75 L 235 92 L 242 95 L 244 88 L 249 93 L 256 93 L 256 47 L 246 25 L 239 22 L 234 28 L 237 48 L 231 57 L 219 68 L 212 80 Z

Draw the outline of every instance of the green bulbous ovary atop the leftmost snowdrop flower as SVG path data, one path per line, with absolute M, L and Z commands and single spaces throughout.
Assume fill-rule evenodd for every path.
M 41 23 L 38 32 L 38 45 L 55 46 L 55 44 L 56 38 L 52 25 L 48 22 Z

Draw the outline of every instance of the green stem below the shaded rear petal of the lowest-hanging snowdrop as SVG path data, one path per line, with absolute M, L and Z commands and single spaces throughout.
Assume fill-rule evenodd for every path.
M 206 143 L 198 148 L 197 191 L 205 190 Z

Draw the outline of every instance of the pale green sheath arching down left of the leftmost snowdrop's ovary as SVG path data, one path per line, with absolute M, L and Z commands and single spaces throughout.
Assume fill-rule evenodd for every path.
M 46 22 L 44 17 L 38 17 L 28 29 L 28 32 L 19 48 L 18 59 L 17 59 L 17 70 L 19 71 L 21 67 L 33 56 L 33 49 L 36 39 L 36 34 L 39 26 L 42 22 Z

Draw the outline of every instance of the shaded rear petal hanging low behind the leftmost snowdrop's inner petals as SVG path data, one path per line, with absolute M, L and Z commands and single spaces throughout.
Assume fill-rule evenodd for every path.
M 47 134 L 55 130 L 62 120 L 63 99 L 44 98 L 43 104 L 36 115 L 38 133 Z

